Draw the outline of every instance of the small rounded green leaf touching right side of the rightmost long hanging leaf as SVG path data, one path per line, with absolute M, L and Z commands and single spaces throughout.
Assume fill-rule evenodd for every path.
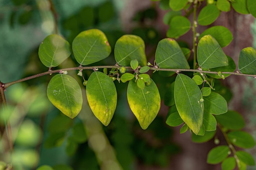
M 220 115 L 227 112 L 227 101 L 219 93 L 211 92 L 204 98 L 204 112 Z

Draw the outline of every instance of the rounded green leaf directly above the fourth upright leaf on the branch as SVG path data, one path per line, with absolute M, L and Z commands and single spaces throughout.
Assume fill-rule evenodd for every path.
M 191 23 L 188 18 L 184 16 L 174 16 L 170 23 L 166 36 L 169 38 L 179 38 L 191 29 Z

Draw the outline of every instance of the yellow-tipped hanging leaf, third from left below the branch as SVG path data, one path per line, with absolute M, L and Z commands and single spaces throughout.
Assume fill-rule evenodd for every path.
M 148 128 L 160 109 L 160 95 L 158 88 L 152 83 L 144 89 L 138 88 L 134 81 L 130 81 L 127 88 L 127 99 L 132 113 L 136 116 L 142 129 Z

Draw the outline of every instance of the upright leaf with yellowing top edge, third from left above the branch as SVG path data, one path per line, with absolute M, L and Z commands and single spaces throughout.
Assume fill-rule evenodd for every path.
M 123 35 L 115 44 L 115 60 L 121 66 L 130 66 L 131 60 L 147 65 L 144 41 L 136 35 Z

